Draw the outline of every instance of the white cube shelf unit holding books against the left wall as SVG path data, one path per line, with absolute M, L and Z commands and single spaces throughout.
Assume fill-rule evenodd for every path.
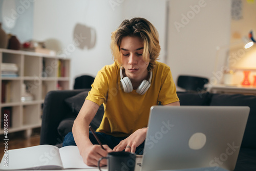
M 31 129 L 41 126 L 41 106 L 47 92 L 52 90 L 69 90 L 70 58 L 51 56 L 40 53 L 0 49 L 0 69 L 2 63 L 15 63 L 18 66 L 17 77 L 3 77 L 0 75 L 1 88 L 1 122 L 0 135 L 4 134 L 4 109 L 11 109 L 11 126 L 8 133 Z M 2 71 L 2 70 L 1 70 Z M 33 95 L 33 100 L 22 102 L 22 85 Z M 9 84 L 8 101 L 7 90 L 2 85 Z M 4 86 L 3 86 L 4 87 Z

